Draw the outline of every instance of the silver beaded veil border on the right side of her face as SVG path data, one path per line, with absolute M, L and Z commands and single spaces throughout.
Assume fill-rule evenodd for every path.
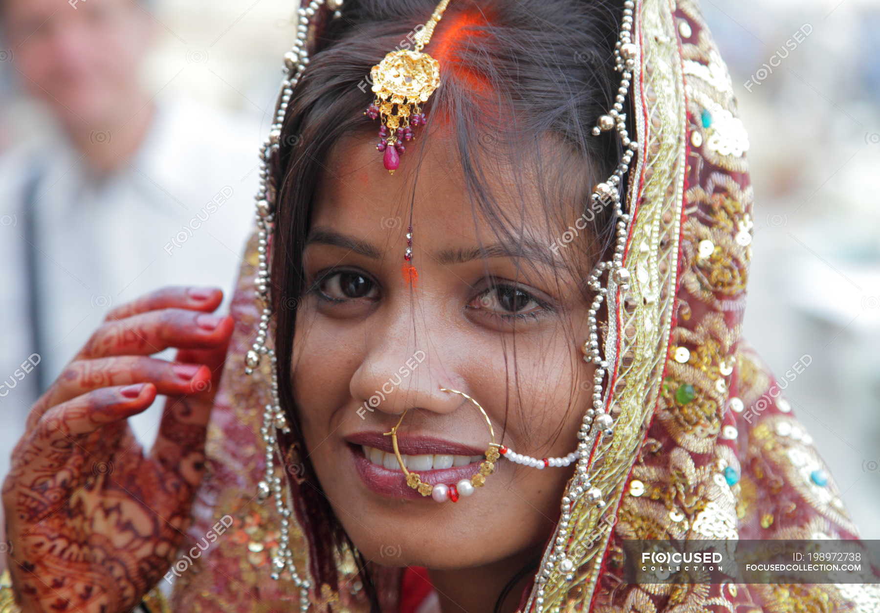
M 602 303 L 609 296 L 613 296 L 616 288 L 620 288 L 622 291 L 627 290 L 631 278 L 629 271 L 623 266 L 623 255 L 627 245 L 632 215 L 623 210 L 624 198 L 621 196 L 620 189 L 623 178 L 627 171 L 629 171 L 629 164 L 639 148 L 639 143 L 629 138 L 626 126 L 627 114 L 623 111 L 623 105 L 632 82 L 636 58 L 639 55 L 639 49 L 633 42 L 635 4 L 634 0 L 627 0 L 624 3 L 620 35 L 614 47 L 614 68 L 620 72 L 620 86 L 614 97 L 612 108 L 607 114 L 598 118 L 596 126 L 592 129 L 592 134 L 596 136 L 601 135 L 603 132 L 615 130 L 620 137 L 620 144 L 624 148 L 624 153 L 618 167 L 605 182 L 595 186 L 591 196 L 593 201 L 599 201 L 605 206 L 613 208 L 618 220 L 616 242 L 612 259 L 599 262 L 593 268 L 587 280 L 588 287 L 596 293 L 588 311 L 587 323 L 590 326 L 590 335 L 582 347 L 583 360 L 592 362 L 597 366 L 593 375 L 592 405 L 584 413 L 581 427 L 577 433 L 579 441 L 577 444 L 577 454 L 579 457 L 575 475 L 568 485 L 566 495 L 561 500 L 561 516 L 556 538 L 552 549 L 543 558 L 542 566 L 536 578 L 537 590 L 532 593 L 530 598 L 530 601 L 533 602 L 537 610 L 543 609 L 546 583 L 554 573 L 561 573 L 565 580 L 574 580 L 575 563 L 566 556 L 565 551 L 566 544 L 568 543 L 571 511 L 575 507 L 576 501 L 580 500 L 582 496 L 586 496 L 586 500 L 597 507 L 605 507 L 606 504 L 603 498 L 604 494 L 598 487 L 590 483 L 589 477 L 590 467 L 598 459 L 591 457 L 591 450 L 595 448 L 601 437 L 613 434 L 614 426 L 614 420 L 606 408 L 607 398 L 609 397 L 608 390 L 605 390 L 603 386 L 611 360 L 608 359 L 609 356 L 604 356 L 599 348 L 599 330 L 596 316 Z M 607 277 L 607 287 L 603 286 L 602 283 L 602 279 L 605 276 Z M 611 313 L 609 313 L 609 317 L 612 317 Z M 606 347 L 608 347 L 607 342 Z M 526 610 L 529 610 L 529 607 L 526 607 Z

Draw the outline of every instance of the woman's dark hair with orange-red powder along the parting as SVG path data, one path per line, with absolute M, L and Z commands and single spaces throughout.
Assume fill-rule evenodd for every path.
M 435 6 L 436 0 L 346 0 L 341 17 L 321 34 L 319 50 L 290 97 L 280 150 L 270 169 L 279 202 L 270 257 L 281 405 L 295 425 L 290 372 L 297 311 L 290 305 L 308 290 L 302 254 L 312 196 L 327 177 L 326 159 L 336 142 L 345 136 L 377 133 L 378 122 L 363 115 L 372 101 L 370 68 L 392 49 L 407 47 L 407 33 L 424 24 Z M 446 9 L 425 48 L 442 66 L 440 87 L 425 112 L 429 128 L 442 118 L 444 127 L 457 137 L 474 215 L 483 215 L 496 234 L 510 236 L 522 227 L 522 220 L 505 213 L 487 187 L 488 171 L 499 158 L 533 171 L 520 177 L 543 178 L 539 191 L 545 201 L 546 227 L 558 229 L 552 230 L 554 236 L 568 230 L 565 220 L 572 213 L 588 211 L 593 184 L 611 175 L 619 163 L 616 139 L 607 134 L 596 137 L 590 131 L 598 116 L 612 106 L 616 93 L 619 77 L 613 69 L 613 49 L 621 14 L 622 2 L 616 0 L 454 0 Z M 429 138 L 420 135 L 407 143 L 401 164 L 420 164 Z M 376 159 L 381 164 L 380 154 Z M 522 180 L 531 179 L 517 178 L 519 190 Z M 576 193 L 576 202 L 571 198 L 562 202 L 560 189 Z M 583 265 L 577 271 L 580 279 L 607 253 L 615 223 L 607 210 L 586 218 L 591 222 L 590 239 L 565 246 L 576 250 L 576 260 Z M 586 296 L 585 288 L 583 292 Z M 295 437 L 306 449 L 298 430 Z M 304 461 L 304 465 L 307 485 L 301 489 L 313 509 L 310 520 L 326 522 L 319 533 L 333 536 L 315 544 L 320 559 L 312 564 L 312 572 L 319 573 L 319 585 L 335 587 L 333 548 L 356 549 L 323 495 L 312 464 Z M 372 573 L 357 552 L 356 558 L 372 607 L 379 610 Z M 509 590 L 510 586 L 496 608 Z

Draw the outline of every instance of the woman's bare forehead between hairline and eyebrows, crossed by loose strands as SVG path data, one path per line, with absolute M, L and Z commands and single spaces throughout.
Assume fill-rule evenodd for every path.
M 377 141 L 376 136 L 354 135 L 335 144 L 322 170 L 313 223 L 370 232 L 406 228 L 412 215 L 422 238 L 426 229 L 437 237 L 495 236 L 498 224 L 488 222 L 468 193 L 454 138 L 438 129 L 423 142 L 407 142 L 393 175 L 382 164 Z M 531 164 L 515 165 L 500 152 L 474 149 L 480 150 L 475 162 L 481 183 L 511 233 L 549 244 L 567 216 L 564 211 L 582 206 L 577 203 L 580 186 L 574 182 L 539 178 Z

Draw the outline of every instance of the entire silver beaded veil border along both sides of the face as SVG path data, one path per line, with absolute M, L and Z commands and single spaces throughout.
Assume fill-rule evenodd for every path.
M 312 0 L 305 8 L 297 10 L 297 39 L 292 49 L 284 55 L 284 74 L 281 91 L 275 108 L 275 120 L 269 130 L 266 142 L 260 147 L 260 188 L 256 196 L 256 223 L 257 223 L 257 253 L 258 268 L 255 278 L 255 294 L 261 304 L 260 323 L 253 347 L 246 355 L 247 375 L 257 375 L 262 357 L 268 356 L 270 361 L 270 390 L 271 402 L 266 405 L 263 412 L 263 425 L 260 434 L 266 443 L 266 472 L 265 477 L 258 485 L 258 499 L 267 500 L 269 495 L 275 499 L 275 508 L 282 517 L 279 536 L 279 547 L 272 559 L 272 578 L 278 580 L 285 571 L 290 573 L 291 579 L 300 587 L 300 610 L 304 613 L 309 609 L 309 589 L 312 584 L 309 580 L 300 577 L 293 561 L 293 553 L 290 549 L 290 505 L 285 500 L 282 478 L 275 474 L 275 453 L 281 457 L 278 449 L 277 432 L 289 432 L 290 427 L 284 418 L 278 398 L 278 375 L 276 370 L 275 350 L 267 345 L 269 321 L 272 317 L 271 298 L 269 294 L 269 266 L 268 266 L 268 237 L 274 223 L 275 215 L 275 186 L 269 189 L 269 164 L 270 159 L 279 148 L 281 130 L 293 87 L 298 83 L 305 67 L 309 63 L 309 54 L 306 48 L 306 39 L 309 32 L 311 18 L 317 14 L 320 7 L 326 4 L 334 11 L 334 17 L 340 16 L 342 0 Z M 635 151 L 638 150 L 638 142 L 631 140 L 627 133 L 627 115 L 623 112 L 623 105 L 630 88 L 635 59 L 638 55 L 638 47 L 632 41 L 633 13 L 635 2 L 627 0 L 624 3 L 623 18 L 620 27 L 620 36 L 614 48 L 615 69 L 620 72 L 620 86 L 614 98 L 612 108 L 607 114 L 599 117 L 596 127 L 592 129 L 593 135 L 602 132 L 616 130 L 620 137 L 620 143 L 624 148 L 623 156 L 617 169 L 605 182 L 599 183 L 592 193 L 593 201 L 600 201 L 606 206 L 612 207 L 617 215 L 616 242 L 610 261 L 600 262 L 590 273 L 588 287 L 596 292 L 596 296 L 590 305 L 588 312 L 588 324 L 590 325 L 589 338 L 583 344 L 583 360 L 592 362 L 598 366 L 593 376 L 592 406 L 584 413 L 577 438 L 580 441 L 575 452 L 578 456 L 576 472 L 568 493 L 561 500 L 561 518 L 557 536 L 554 542 L 554 552 L 545 557 L 544 564 L 539 571 L 538 591 L 534 597 L 534 603 L 540 609 L 544 604 L 544 587 L 546 581 L 554 571 L 563 573 L 567 580 L 573 580 L 575 570 L 571 560 L 565 557 L 565 544 L 568 540 L 568 522 L 571 518 L 571 508 L 575 500 L 586 495 L 587 500 L 598 507 L 605 507 L 603 493 L 597 487 L 590 484 L 587 476 L 590 465 L 595 458 L 590 457 L 590 448 L 598 442 L 600 435 L 612 434 L 613 419 L 606 412 L 605 398 L 607 394 L 603 388 L 603 381 L 607 374 L 609 361 L 605 359 L 599 349 L 598 321 L 596 315 L 605 298 L 609 295 L 609 289 L 620 288 L 626 290 L 630 281 L 630 274 L 623 266 L 623 254 L 627 244 L 627 234 L 632 216 L 624 212 L 623 199 L 620 187 L 623 177 L 629 171 L 629 164 Z M 608 287 L 603 287 L 602 278 L 607 274 Z M 596 426 L 596 427 L 593 427 Z M 574 494 L 573 500 L 570 494 Z

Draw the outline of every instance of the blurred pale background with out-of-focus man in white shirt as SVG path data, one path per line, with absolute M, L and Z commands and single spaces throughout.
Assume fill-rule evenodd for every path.
M 750 135 L 744 336 L 781 379 L 862 536 L 880 538 L 880 3 L 702 6 Z M 36 390 L 106 310 L 166 284 L 229 294 L 297 6 L 0 7 L 5 474 Z M 787 380 L 799 361 L 809 366 Z M 159 411 L 136 418 L 143 442 Z

